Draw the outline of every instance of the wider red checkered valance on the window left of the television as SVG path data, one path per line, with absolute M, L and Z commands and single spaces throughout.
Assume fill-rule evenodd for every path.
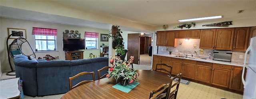
M 32 35 L 51 35 L 51 36 L 57 36 L 57 29 L 33 27 Z

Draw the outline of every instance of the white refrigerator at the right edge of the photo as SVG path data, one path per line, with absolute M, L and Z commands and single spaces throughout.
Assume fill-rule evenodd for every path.
M 249 64 L 246 65 L 246 55 L 249 53 Z M 246 78 L 244 80 L 244 70 Z M 244 67 L 242 72 L 242 82 L 244 84 L 243 99 L 256 99 L 256 37 L 251 38 L 250 46 L 244 55 Z

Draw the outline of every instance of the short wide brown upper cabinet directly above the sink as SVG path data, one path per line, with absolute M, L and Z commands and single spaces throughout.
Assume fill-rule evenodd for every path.
M 200 29 L 174 31 L 176 39 L 199 39 Z

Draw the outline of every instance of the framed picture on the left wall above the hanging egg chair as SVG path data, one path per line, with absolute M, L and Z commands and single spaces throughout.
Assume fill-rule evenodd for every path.
M 16 28 L 7 28 L 8 29 L 8 36 L 10 36 L 10 39 L 17 39 L 19 37 L 23 37 L 27 39 L 26 29 L 16 29 Z

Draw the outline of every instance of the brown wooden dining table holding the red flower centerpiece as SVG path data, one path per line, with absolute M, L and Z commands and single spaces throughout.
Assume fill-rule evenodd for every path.
M 139 84 L 128 93 L 113 88 L 116 80 L 103 78 L 85 83 L 68 91 L 60 99 L 148 99 L 150 91 L 158 86 L 170 83 L 168 74 L 154 70 L 136 70 L 140 73 Z

